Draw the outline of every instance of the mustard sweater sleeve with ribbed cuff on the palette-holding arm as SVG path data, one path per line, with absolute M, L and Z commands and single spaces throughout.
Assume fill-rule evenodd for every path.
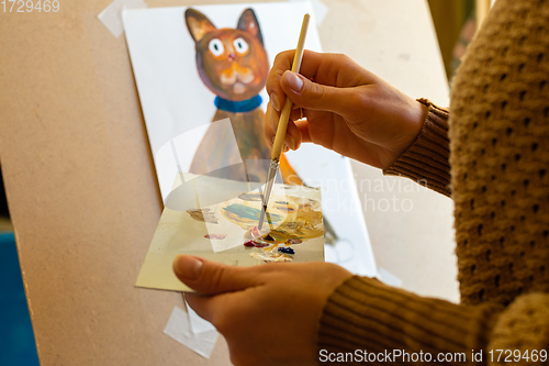
M 531 356 L 533 351 L 538 363 L 512 358 L 513 365 L 549 364 L 549 295 L 524 295 L 502 309 L 495 303 L 460 306 L 423 298 L 355 276 L 324 308 L 320 365 L 363 365 L 369 354 L 376 359 L 368 364 L 374 365 L 504 365 L 511 352 Z

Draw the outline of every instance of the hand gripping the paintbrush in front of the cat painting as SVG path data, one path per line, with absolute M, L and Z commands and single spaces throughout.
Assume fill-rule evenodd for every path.
M 269 142 L 287 96 L 294 103 L 285 136 L 290 148 L 313 142 L 385 169 L 415 141 L 427 114 L 424 104 L 346 55 L 305 51 L 301 75 L 291 73 L 293 54 L 280 53 L 267 79 Z M 300 120 L 299 108 L 306 119 Z

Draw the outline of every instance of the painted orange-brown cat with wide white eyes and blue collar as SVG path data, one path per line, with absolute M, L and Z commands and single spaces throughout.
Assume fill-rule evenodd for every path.
M 194 154 L 190 171 L 265 181 L 270 148 L 264 134 L 265 114 L 259 92 L 267 81 L 269 60 L 256 14 L 246 9 L 236 29 L 217 29 L 192 8 L 184 12 L 184 20 L 195 43 L 200 78 L 215 93 L 217 108 L 212 125 Z M 231 125 L 213 125 L 227 118 Z M 234 148 L 235 138 L 237 149 Z M 285 157 L 281 157 L 280 164 L 284 182 L 302 184 Z

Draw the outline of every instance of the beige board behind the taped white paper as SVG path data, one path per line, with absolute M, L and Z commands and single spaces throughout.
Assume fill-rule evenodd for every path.
M 349 54 L 413 97 L 447 102 L 423 0 L 322 2 L 326 52 Z M 109 3 L 0 12 L 0 158 L 41 363 L 229 365 L 222 339 L 204 359 L 163 334 L 180 295 L 134 287 L 161 201 L 124 37 L 97 19 Z M 456 297 L 451 201 L 425 193 L 414 202 L 423 211 L 406 225 L 367 213 L 378 264 L 418 291 Z

